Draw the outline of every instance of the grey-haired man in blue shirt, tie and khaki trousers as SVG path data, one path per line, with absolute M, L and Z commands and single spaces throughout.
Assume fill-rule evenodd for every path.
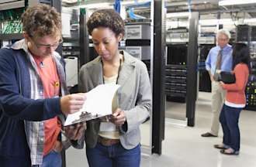
M 226 91 L 220 86 L 214 74 L 220 70 L 230 71 L 232 69 L 232 47 L 228 44 L 230 32 L 220 29 L 216 34 L 217 46 L 210 49 L 206 59 L 206 70 L 212 81 L 212 126 L 209 132 L 202 134 L 202 137 L 217 137 L 220 128 L 220 110 L 224 103 Z

